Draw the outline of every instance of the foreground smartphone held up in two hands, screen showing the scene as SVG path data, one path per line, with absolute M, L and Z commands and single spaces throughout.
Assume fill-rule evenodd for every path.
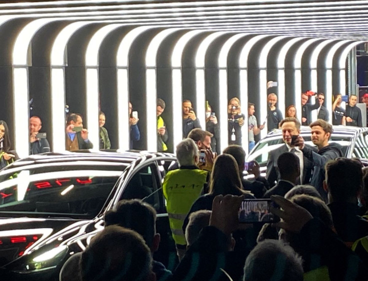
M 244 199 L 239 208 L 238 218 L 241 223 L 276 222 L 279 217 L 270 212 L 274 205 L 271 199 Z

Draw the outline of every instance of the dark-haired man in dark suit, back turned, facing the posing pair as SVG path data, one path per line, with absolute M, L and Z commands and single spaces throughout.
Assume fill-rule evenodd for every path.
M 280 179 L 275 186 L 267 190 L 263 198 L 270 198 L 271 195 L 285 196 L 295 186 L 300 175 L 299 158 L 292 152 L 283 152 L 277 159 L 277 167 Z

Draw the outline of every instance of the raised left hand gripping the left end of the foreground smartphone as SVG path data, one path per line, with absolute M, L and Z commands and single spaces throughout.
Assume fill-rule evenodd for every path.
M 215 226 L 226 235 L 231 234 L 238 228 L 239 220 L 237 213 L 244 196 L 227 194 L 217 195 L 212 201 L 212 213 L 209 225 Z

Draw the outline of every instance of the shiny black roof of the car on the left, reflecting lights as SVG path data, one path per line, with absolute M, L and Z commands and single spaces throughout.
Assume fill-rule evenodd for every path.
M 138 150 L 129 150 L 129 151 L 119 151 L 116 149 L 109 150 L 76 150 L 73 152 L 63 151 L 63 152 L 47 152 L 29 155 L 27 157 L 21 158 L 10 165 L 6 166 L 4 169 L 21 167 L 25 165 L 32 164 L 44 164 L 44 163 L 65 163 L 65 162 L 78 162 L 87 161 L 87 162 L 110 162 L 114 164 L 121 163 L 122 165 L 128 165 L 131 162 L 145 157 L 174 157 L 171 153 L 161 153 L 161 152 L 148 152 L 148 151 L 138 151 Z M 3 169 L 3 170 L 4 170 Z

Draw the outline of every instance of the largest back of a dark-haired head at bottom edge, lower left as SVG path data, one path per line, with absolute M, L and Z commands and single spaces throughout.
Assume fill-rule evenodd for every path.
M 80 260 L 82 280 L 146 280 L 152 256 L 142 236 L 117 225 L 105 227 L 85 248 Z

